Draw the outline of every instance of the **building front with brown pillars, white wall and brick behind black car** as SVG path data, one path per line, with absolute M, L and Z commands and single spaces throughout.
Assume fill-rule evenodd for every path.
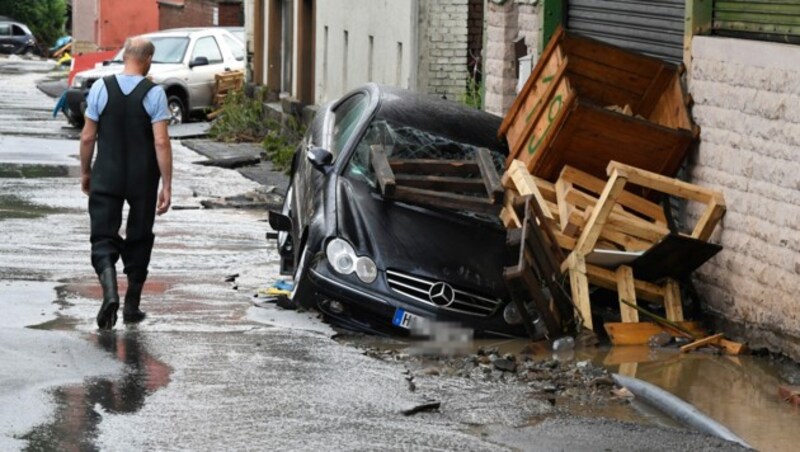
M 367 82 L 458 100 L 480 74 L 483 0 L 249 0 L 245 9 L 252 80 L 305 104 Z

